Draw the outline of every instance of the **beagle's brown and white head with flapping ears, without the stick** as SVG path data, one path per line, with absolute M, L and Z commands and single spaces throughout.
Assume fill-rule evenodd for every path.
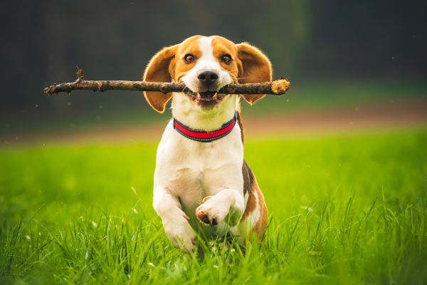
M 185 83 L 186 99 L 199 110 L 221 105 L 226 94 L 217 90 L 230 83 L 271 81 L 268 58 L 248 43 L 235 44 L 221 36 L 192 36 L 176 46 L 163 48 L 149 62 L 144 81 Z M 164 112 L 172 93 L 144 92 L 149 105 Z M 265 94 L 242 95 L 249 103 Z

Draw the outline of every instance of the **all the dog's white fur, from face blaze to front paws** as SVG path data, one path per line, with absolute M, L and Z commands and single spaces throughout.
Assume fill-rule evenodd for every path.
M 230 76 L 221 70 L 212 55 L 211 38 L 200 38 L 199 44 L 203 56 L 184 76 L 186 86 L 203 92 L 197 89 L 197 73 L 202 70 L 221 74 L 218 80 L 222 86 L 230 83 Z M 176 120 L 190 128 L 207 131 L 221 128 L 233 118 L 237 107 L 238 95 L 227 95 L 210 110 L 196 107 L 182 93 L 174 93 L 172 100 Z M 190 140 L 176 132 L 172 122 L 167 125 L 157 149 L 153 207 L 162 217 L 165 232 L 174 247 L 193 252 L 194 231 L 199 231 L 199 227 L 211 239 L 223 237 L 227 227 L 238 224 L 248 201 L 248 197 L 243 197 L 242 166 L 243 143 L 238 124 L 231 133 L 213 142 Z M 202 204 L 207 196 L 211 198 Z M 196 217 L 198 207 L 211 220 L 216 218 L 218 225 L 201 224 Z M 188 221 L 185 216 L 189 217 Z M 233 228 L 232 232 L 235 231 Z

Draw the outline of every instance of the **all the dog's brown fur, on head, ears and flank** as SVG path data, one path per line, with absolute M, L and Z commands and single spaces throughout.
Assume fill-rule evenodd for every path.
M 143 80 L 148 82 L 181 82 L 181 78 L 196 65 L 197 59 L 202 56 L 199 44 L 197 43 L 200 37 L 201 36 L 192 36 L 176 46 L 163 48 L 162 51 L 156 53 L 145 70 Z M 258 48 L 248 43 L 236 45 L 221 36 L 213 36 L 212 38 L 214 38 L 212 41 L 212 45 L 214 46 L 214 57 L 218 63 L 220 63 L 221 68 L 230 74 L 231 78 L 233 78 L 233 82 L 260 83 L 271 81 L 272 69 L 270 61 L 258 50 Z M 188 53 L 191 53 L 195 58 L 191 63 L 186 63 L 183 59 Z M 233 58 L 230 64 L 221 61 L 221 57 L 226 53 Z M 149 105 L 160 113 L 164 112 L 167 101 L 172 98 L 172 93 L 144 92 L 144 95 Z M 242 97 L 251 104 L 264 96 L 265 94 L 242 95 Z M 237 120 L 241 128 L 242 143 L 244 144 L 243 123 L 240 110 L 238 110 Z M 243 160 L 242 175 L 243 194 L 248 194 L 249 197 L 245 212 L 241 217 L 241 222 L 243 222 L 246 217 L 251 216 L 252 212 L 257 207 L 256 198 L 253 194 L 256 191 L 258 195 L 258 206 L 260 208 L 260 218 L 253 226 L 252 232 L 261 235 L 267 227 L 267 207 L 264 202 L 263 193 L 258 187 L 255 176 L 245 160 Z

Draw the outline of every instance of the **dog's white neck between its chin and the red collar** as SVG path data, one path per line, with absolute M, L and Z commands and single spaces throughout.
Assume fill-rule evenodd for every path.
M 227 95 L 221 105 L 211 110 L 200 110 L 189 102 L 183 93 L 174 93 L 172 115 L 180 123 L 194 130 L 218 130 L 234 117 L 238 106 L 238 95 Z

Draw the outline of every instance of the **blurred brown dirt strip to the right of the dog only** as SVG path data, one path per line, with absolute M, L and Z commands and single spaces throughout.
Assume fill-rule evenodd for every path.
M 324 133 L 427 124 L 427 98 L 243 119 L 248 135 Z

